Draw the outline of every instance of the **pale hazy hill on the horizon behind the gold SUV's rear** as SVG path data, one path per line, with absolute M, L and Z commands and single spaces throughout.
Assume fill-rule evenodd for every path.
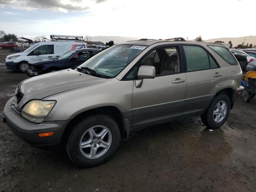
M 225 43 L 228 43 L 229 41 L 232 42 L 233 47 L 237 46 L 238 44 L 242 44 L 244 42 L 245 38 L 245 45 L 252 44 L 253 46 L 256 45 L 256 36 L 246 36 L 246 37 L 225 37 L 225 38 L 216 38 L 216 39 L 208 39 L 204 40 L 205 42 L 215 42 L 215 41 L 224 41 Z

